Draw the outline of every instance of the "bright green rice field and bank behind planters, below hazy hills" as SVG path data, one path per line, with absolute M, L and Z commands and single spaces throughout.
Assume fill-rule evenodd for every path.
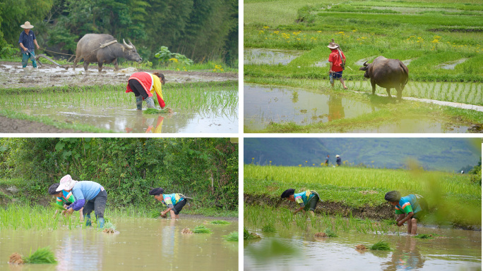
M 318 204 L 320 212 L 342 215 L 352 212 L 354 216 L 374 219 L 395 218 L 394 210 L 384 200 L 386 192 L 398 190 L 404 196 L 421 194 L 429 203 L 431 224 L 481 225 L 481 186 L 468 175 L 424 170 L 244 165 L 245 202 L 289 204 L 280 201 L 280 194 L 289 188 L 297 193 L 316 190 L 324 201 Z

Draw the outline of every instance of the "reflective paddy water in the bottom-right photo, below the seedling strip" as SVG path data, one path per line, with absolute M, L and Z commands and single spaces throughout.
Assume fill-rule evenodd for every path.
M 246 227 L 247 225 L 245 225 Z M 275 233 L 250 232 L 261 239 L 244 241 L 244 270 L 481 270 L 482 233 L 462 229 L 418 227 L 418 233 L 444 235 L 439 239 L 415 239 L 405 233 L 362 234 L 342 232 L 334 238 L 316 238 L 314 230 L 277 227 Z M 400 228 L 404 231 L 404 228 Z M 388 241 L 392 251 L 359 252 Z

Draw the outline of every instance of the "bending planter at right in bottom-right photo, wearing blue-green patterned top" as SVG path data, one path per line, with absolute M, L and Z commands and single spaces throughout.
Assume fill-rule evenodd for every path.
M 421 220 L 424 214 L 428 210 L 428 203 L 426 200 L 417 194 L 410 194 L 401 197 L 399 191 L 390 191 L 386 193 L 384 199 L 391 205 L 395 206 L 395 213 L 399 215 L 396 218 L 398 227 L 404 225 L 407 221 L 407 233 L 416 234 L 417 232 L 417 220 Z

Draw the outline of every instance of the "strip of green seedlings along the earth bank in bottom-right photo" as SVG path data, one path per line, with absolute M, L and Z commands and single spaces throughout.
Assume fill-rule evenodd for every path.
M 354 218 L 350 213 L 348 218 L 338 214 L 335 216 L 326 213 L 304 215 L 297 213 L 294 215 L 287 208 L 272 208 L 268 206 L 249 206 L 244 207 L 244 219 L 249 225 L 253 225 L 262 232 L 275 232 L 276 227 L 290 229 L 297 227 L 303 231 L 325 232 L 330 229 L 333 232 L 359 232 L 363 234 L 399 234 L 399 227 L 394 220 L 374 221 Z

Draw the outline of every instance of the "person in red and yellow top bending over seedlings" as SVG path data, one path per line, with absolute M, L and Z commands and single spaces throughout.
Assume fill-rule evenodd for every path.
M 138 110 L 143 109 L 143 100 L 146 101 L 148 108 L 155 108 L 153 94 L 156 94 L 157 103 L 159 103 L 161 109 L 164 109 L 166 104 L 161 92 L 163 84 L 165 84 L 165 75 L 162 73 L 133 73 L 129 77 L 126 93 L 134 92 Z

